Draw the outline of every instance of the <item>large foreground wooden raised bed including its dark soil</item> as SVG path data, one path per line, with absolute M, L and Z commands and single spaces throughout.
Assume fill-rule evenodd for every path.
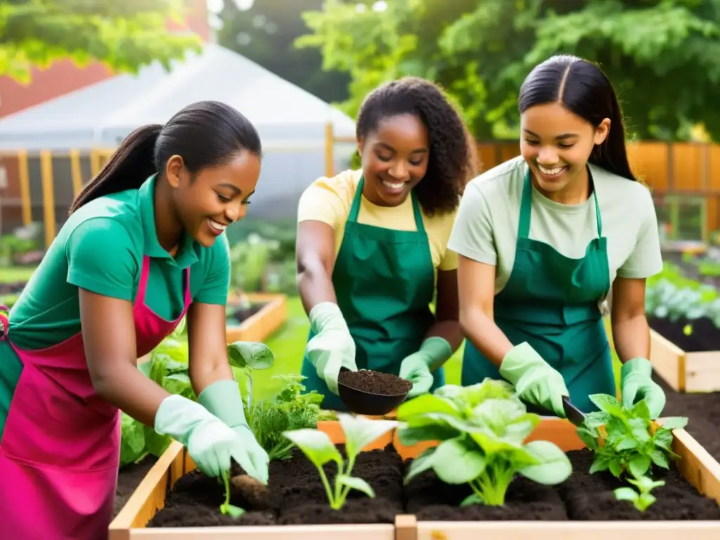
M 343 444 L 338 422 L 320 422 L 318 429 Z M 434 445 L 404 446 L 393 430 L 365 446 L 352 469 L 353 476 L 374 487 L 376 498 L 351 491 L 341 510 L 330 510 L 318 469 L 298 452 L 286 462 L 271 462 L 267 500 L 277 496 L 274 510 L 253 508 L 245 493 L 233 492 L 246 505 L 240 526 L 218 510 L 222 486 L 193 472 L 184 447 L 172 444 L 111 524 L 109 540 L 638 540 L 644 534 L 654 540 L 677 540 L 680 534 L 717 540 L 720 464 L 684 430 L 672 434 L 680 461 L 655 477 L 667 484 L 653 492 L 657 501 L 644 513 L 613 495 L 614 488 L 627 484 L 607 471 L 589 473 L 593 457 L 575 426 L 543 418 L 528 441 L 557 444 L 570 458 L 572 474 L 559 485 L 518 476 L 503 506 L 461 506 L 472 493 L 468 485 L 444 484 L 432 469 L 403 486 L 411 463 L 404 460 Z M 328 476 L 333 468 L 326 469 Z

